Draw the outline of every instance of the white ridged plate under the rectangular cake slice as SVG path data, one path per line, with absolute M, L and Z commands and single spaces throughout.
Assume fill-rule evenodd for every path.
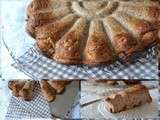
M 98 105 L 98 111 L 105 118 L 156 118 L 158 117 L 158 90 L 151 90 L 150 95 L 152 102 L 145 104 L 140 107 L 135 107 L 120 113 L 110 113 L 104 102 L 100 102 Z

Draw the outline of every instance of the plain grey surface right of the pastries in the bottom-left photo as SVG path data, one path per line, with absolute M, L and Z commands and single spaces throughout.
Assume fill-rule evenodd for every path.
M 53 113 L 53 115 L 55 116 L 64 118 L 65 115 L 67 115 L 68 110 L 71 112 L 71 107 L 73 106 L 73 104 L 79 103 L 78 93 L 79 93 L 79 82 L 73 81 L 71 84 L 66 86 L 63 94 L 57 95 L 56 100 L 53 101 L 52 103 L 49 103 L 51 113 Z M 79 113 L 78 110 L 77 113 Z M 80 117 L 79 115 L 78 116 L 71 115 L 71 116 L 74 116 L 76 118 Z

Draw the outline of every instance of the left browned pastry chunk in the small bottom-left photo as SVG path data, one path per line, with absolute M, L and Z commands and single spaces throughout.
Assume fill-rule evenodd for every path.
M 21 97 L 26 101 L 31 101 L 33 99 L 34 81 L 30 80 L 9 81 L 8 87 L 12 90 L 12 94 L 16 97 Z

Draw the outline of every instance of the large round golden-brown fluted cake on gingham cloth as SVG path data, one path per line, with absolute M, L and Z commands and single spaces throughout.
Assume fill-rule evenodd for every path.
M 33 0 L 27 31 L 62 64 L 130 62 L 159 41 L 156 0 Z

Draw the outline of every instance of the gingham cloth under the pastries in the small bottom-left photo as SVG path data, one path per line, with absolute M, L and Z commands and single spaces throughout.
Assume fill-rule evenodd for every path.
M 48 103 L 43 99 L 40 86 L 36 83 L 34 98 L 32 101 L 23 101 L 14 96 L 11 97 L 5 120 L 51 118 Z

